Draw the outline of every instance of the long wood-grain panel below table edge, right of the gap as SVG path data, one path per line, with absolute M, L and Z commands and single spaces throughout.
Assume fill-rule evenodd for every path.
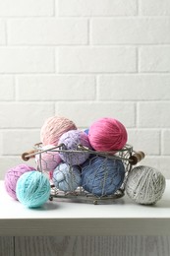
M 170 236 L 23 236 L 16 256 L 167 256 Z

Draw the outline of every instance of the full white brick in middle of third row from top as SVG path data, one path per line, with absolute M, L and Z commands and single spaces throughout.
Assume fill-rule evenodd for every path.
M 137 68 L 133 47 L 61 47 L 58 54 L 61 73 L 135 72 Z

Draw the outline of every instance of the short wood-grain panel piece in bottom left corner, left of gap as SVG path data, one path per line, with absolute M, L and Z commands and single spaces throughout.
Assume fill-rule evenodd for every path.
M 0 236 L 0 256 L 15 256 L 13 236 Z

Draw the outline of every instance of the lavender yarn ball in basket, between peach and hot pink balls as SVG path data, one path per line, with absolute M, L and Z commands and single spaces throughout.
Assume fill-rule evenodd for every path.
M 59 140 L 59 145 L 64 145 L 63 148 L 66 152 L 60 152 L 60 158 L 71 165 L 79 165 L 88 159 L 89 153 L 82 150 L 82 152 L 67 152 L 77 151 L 79 145 L 85 146 L 91 149 L 89 144 L 88 136 L 84 131 L 72 130 L 64 133 Z

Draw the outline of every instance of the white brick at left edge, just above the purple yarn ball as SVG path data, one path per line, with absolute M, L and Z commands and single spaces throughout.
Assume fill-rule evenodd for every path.
M 5 173 L 10 168 L 14 168 L 19 164 L 28 164 L 29 166 L 36 167 L 34 160 L 28 160 L 27 162 L 22 160 L 21 156 L 6 156 L 0 157 L 1 162 L 1 171 L 0 171 L 0 179 L 4 180 Z

